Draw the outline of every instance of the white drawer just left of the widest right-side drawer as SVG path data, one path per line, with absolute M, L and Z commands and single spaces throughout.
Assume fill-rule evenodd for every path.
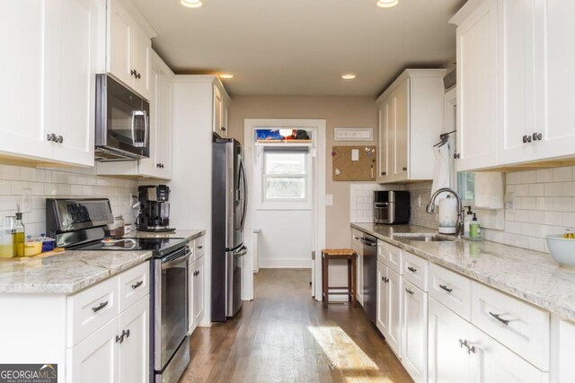
M 471 280 L 444 267 L 429 265 L 429 295 L 461 318 L 471 320 Z

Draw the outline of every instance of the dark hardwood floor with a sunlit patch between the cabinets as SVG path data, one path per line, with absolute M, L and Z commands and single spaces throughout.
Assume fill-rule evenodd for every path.
M 261 269 L 255 300 L 191 335 L 180 382 L 411 382 L 359 306 L 312 299 L 310 274 Z

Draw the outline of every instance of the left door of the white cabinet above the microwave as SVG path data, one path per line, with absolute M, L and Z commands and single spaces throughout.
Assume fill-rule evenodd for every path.
M 108 72 L 131 86 L 134 77 L 131 65 L 134 22 L 117 1 L 109 2 Z

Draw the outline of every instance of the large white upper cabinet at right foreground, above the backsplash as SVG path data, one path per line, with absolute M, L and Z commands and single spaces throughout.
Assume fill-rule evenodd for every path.
M 573 158 L 575 3 L 471 0 L 457 25 L 457 170 Z

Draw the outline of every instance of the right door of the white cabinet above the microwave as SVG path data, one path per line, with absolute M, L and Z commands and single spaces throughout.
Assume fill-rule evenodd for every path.
M 132 27 L 131 65 L 137 72 L 134 76 L 134 90 L 145 99 L 150 99 L 150 59 L 152 41 L 136 24 Z

